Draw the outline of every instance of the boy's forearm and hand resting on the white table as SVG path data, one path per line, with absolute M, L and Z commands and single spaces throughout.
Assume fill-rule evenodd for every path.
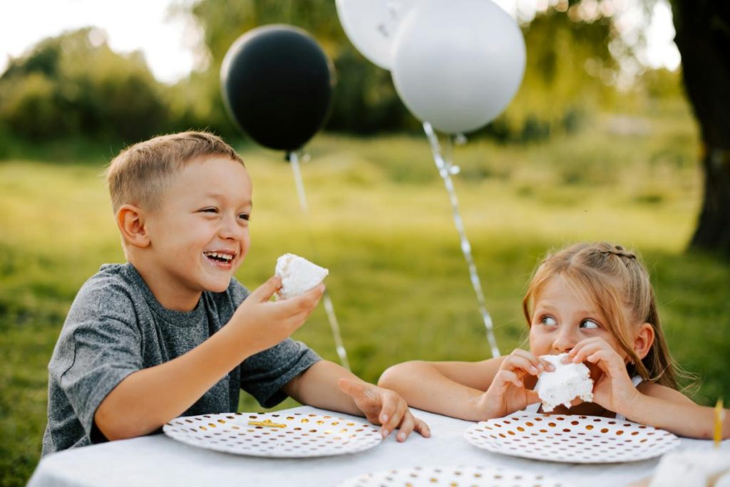
M 395 392 L 367 383 L 334 362 L 321 360 L 289 381 L 283 391 L 302 404 L 365 416 L 382 424 L 383 437 L 399 428 L 397 439 L 404 441 L 410 432 L 429 437 L 429 426 L 415 418 L 407 403 Z

